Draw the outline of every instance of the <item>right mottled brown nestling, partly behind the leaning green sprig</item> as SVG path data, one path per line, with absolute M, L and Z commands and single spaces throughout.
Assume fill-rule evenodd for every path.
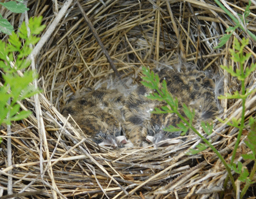
M 203 71 L 196 69 L 180 70 L 162 68 L 155 70 L 160 83 L 166 81 L 167 89 L 178 98 L 178 111 L 185 116 L 182 105 L 187 105 L 196 112 L 194 125 L 199 127 L 202 120 L 208 121 L 218 113 L 214 94 L 214 81 L 206 77 Z M 161 86 L 161 85 L 159 85 Z M 181 119 L 175 113 L 154 114 L 155 108 L 167 106 L 165 102 L 158 102 L 146 97 L 151 89 L 140 85 L 127 97 L 124 106 L 126 137 L 135 145 L 146 146 L 153 143 L 155 147 L 180 142 L 170 140 L 179 137 L 181 132 L 166 132 L 169 125 L 177 127 Z

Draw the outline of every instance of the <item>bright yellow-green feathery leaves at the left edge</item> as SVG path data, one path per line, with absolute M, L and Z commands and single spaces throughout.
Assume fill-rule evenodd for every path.
M 12 32 L 7 43 L 0 41 L 0 68 L 3 70 L 4 80 L 0 87 L 0 125 L 2 123 L 11 125 L 11 121 L 26 118 L 31 114 L 31 111 L 19 111 L 19 101 L 39 92 L 31 84 L 37 78 L 36 71 L 24 69 L 30 65 L 30 61 L 27 59 L 32 52 L 30 44 L 36 44 L 39 41 L 40 38 L 36 35 L 45 28 L 45 25 L 40 25 L 41 20 L 42 17 L 29 19 L 30 36 L 28 36 L 25 22 L 23 22 L 19 32 L 17 34 Z M 18 74 L 20 70 L 24 71 L 23 75 Z M 11 103 L 9 104 L 10 99 Z

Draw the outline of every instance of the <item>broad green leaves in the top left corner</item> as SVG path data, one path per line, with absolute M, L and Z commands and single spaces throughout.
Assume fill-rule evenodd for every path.
M 19 2 L 19 3 L 16 3 Z M 16 2 L 10 1 L 6 3 L 1 3 L 0 5 L 4 6 L 8 10 L 14 13 L 24 13 L 25 11 L 28 11 L 29 9 L 23 4 L 23 0 L 17 0 Z M 10 35 L 13 31 L 13 26 L 11 23 L 7 20 L 4 19 L 3 16 L 0 14 L 0 33 L 3 32 L 5 34 Z

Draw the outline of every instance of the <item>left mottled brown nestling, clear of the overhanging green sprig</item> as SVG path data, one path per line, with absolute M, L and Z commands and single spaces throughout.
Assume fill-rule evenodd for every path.
M 105 89 L 89 90 L 63 107 L 63 116 L 70 114 L 82 132 L 91 136 L 97 144 L 122 147 L 127 142 L 121 122 L 117 119 L 122 118 L 122 94 Z M 75 125 L 73 120 L 70 122 Z

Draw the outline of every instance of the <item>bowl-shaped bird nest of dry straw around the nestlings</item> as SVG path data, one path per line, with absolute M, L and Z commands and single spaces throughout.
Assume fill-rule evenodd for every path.
M 140 81 L 141 66 L 154 68 L 158 64 L 190 62 L 200 70 L 223 77 L 225 92 L 240 90 L 239 80 L 229 76 L 220 65 L 236 68 L 236 63 L 230 60 L 229 48 L 233 37 L 247 35 L 236 30 L 225 47 L 214 48 L 226 28 L 234 25 L 213 1 L 78 2 L 122 78 L 129 77 L 136 84 Z M 226 3 L 241 14 L 246 6 L 242 1 Z M 33 114 L 12 123 L 11 147 L 7 147 L 7 129 L 2 127 L 2 194 L 7 195 L 9 184 L 19 198 L 217 198 L 227 172 L 210 148 L 187 155 L 190 148 L 202 142 L 197 135 L 168 147 L 112 149 L 82 137 L 67 122 L 60 111 L 71 95 L 117 74 L 76 1 L 29 1 L 28 7 L 28 15 L 42 15 L 42 23 L 47 26 L 41 34 L 42 39 L 46 37 L 44 45 L 35 46 L 34 54 L 42 92 L 37 98 L 22 102 L 22 108 L 32 110 Z M 17 28 L 23 14 L 3 12 Z M 254 13 L 251 10 L 247 18 L 247 29 L 255 33 Z M 252 53 L 250 62 L 255 63 L 255 41 L 249 42 L 244 52 Z M 246 86 L 256 86 L 254 73 Z M 221 106 L 224 111 L 220 118 L 241 116 L 241 101 L 223 100 Z M 251 94 L 246 102 L 247 123 L 255 113 L 256 97 Z M 229 162 L 238 129 L 217 119 L 213 122 L 214 131 L 208 139 Z M 234 162 L 241 161 L 241 154 L 248 152 L 243 142 L 247 133 L 248 129 L 244 129 Z M 12 156 L 11 164 L 7 162 L 8 153 Z M 250 160 L 243 161 L 248 168 L 250 164 Z M 225 194 L 232 195 L 231 185 L 227 187 Z

